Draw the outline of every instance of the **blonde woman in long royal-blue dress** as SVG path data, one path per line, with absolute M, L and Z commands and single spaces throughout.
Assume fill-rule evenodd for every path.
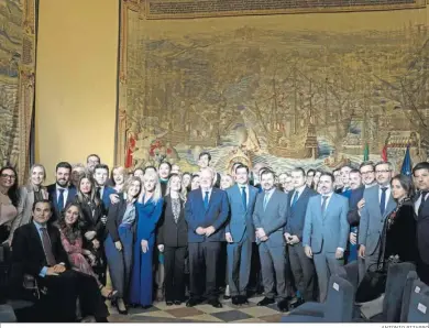
M 156 173 L 146 172 L 143 176 L 144 193 L 139 198 L 136 239 L 130 288 L 130 303 L 148 308 L 153 292 L 153 251 L 155 230 L 163 211 L 160 178 Z

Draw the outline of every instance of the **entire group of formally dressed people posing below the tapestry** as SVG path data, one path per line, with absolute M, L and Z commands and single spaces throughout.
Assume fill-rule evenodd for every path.
M 58 163 L 47 187 L 43 165 L 23 186 L 2 167 L 0 242 L 12 249 L 14 278 L 46 286 L 58 320 L 76 318 L 79 298 L 98 321 L 105 299 L 120 314 L 154 298 L 219 308 L 222 287 L 239 306 L 251 285 L 263 288 L 258 306 L 277 298 L 287 311 L 323 302 L 330 275 L 352 261 L 361 280 L 381 262 L 414 262 L 429 283 L 429 163 L 409 177 L 388 162 L 280 174 L 235 163 L 224 175 L 210 162 L 204 152 L 196 173 L 162 162 L 109 175 L 91 154 L 86 165 Z

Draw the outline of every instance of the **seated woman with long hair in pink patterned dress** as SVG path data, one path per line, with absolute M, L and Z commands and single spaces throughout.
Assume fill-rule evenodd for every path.
M 58 221 L 63 248 L 67 252 L 72 269 L 94 276 L 100 287 L 101 295 L 111 299 L 116 296 L 117 292 L 107 288 L 99 281 L 87 260 L 88 258 L 89 261 L 94 263 L 96 261 L 96 256 L 91 253 L 91 251 L 84 249 L 84 240 L 78 225 L 81 219 L 82 212 L 79 205 L 73 203 L 68 204 L 62 212 L 62 217 Z

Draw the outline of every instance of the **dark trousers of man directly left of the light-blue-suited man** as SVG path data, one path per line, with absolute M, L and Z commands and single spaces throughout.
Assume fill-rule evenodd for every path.
M 300 242 L 288 245 L 287 250 L 296 288 L 306 302 L 315 300 L 316 270 L 312 260 L 307 258 Z

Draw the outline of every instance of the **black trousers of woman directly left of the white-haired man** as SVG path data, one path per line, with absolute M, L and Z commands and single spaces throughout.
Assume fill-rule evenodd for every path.
M 165 247 L 165 300 L 185 300 L 185 258 L 187 247 Z

